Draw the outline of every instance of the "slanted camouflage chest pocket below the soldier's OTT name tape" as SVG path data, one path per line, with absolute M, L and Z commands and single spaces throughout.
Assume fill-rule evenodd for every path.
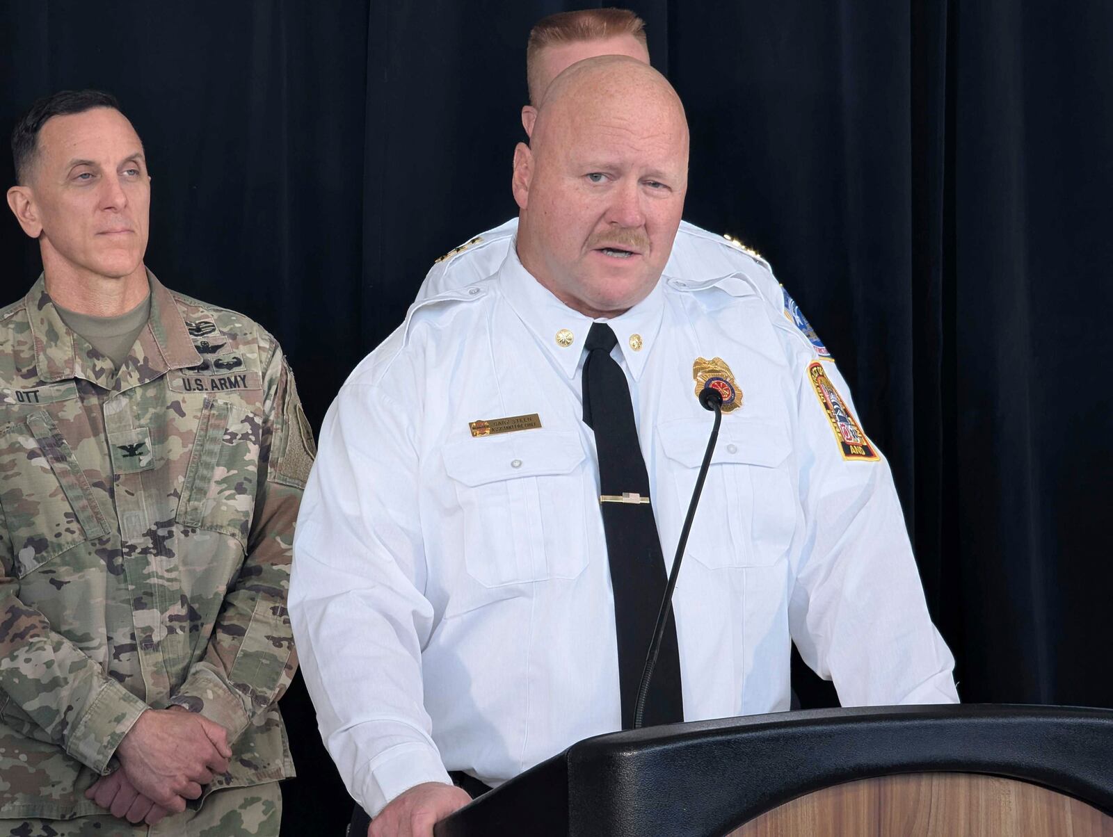
M 46 410 L 0 430 L 0 506 L 18 578 L 108 534 L 85 471 Z

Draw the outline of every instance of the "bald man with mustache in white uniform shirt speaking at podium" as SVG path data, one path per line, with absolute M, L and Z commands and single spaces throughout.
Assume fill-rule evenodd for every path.
M 613 56 L 565 70 L 515 149 L 515 247 L 415 304 L 328 411 L 289 609 L 371 835 L 431 834 L 467 801 L 450 770 L 499 785 L 624 726 L 615 552 L 646 526 L 612 523 L 649 512 L 671 559 L 709 377 L 726 405 L 673 601 L 673 708 L 787 709 L 792 641 L 844 705 L 957 700 L 888 465 L 835 365 L 755 263 L 662 275 L 687 170 L 683 109 L 656 70 Z M 589 405 L 607 371 L 614 397 L 592 388 Z M 602 467 L 601 416 L 623 401 L 643 481 L 629 504 Z M 629 570 L 663 578 L 667 560 Z M 658 603 L 638 608 L 652 621 Z

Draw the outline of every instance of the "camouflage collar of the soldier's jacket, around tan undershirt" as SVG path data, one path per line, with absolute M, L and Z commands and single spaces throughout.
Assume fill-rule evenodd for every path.
M 150 270 L 147 270 L 147 282 L 150 285 L 150 317 L 117 377 L 111 361 L 62 322 L 47 293 L 46 275 L 40 274 L 24 297 L 39 380 L 55 383 L 79 377 L 106 390 L 122 391 L 147 383 L 167 370 L 198 365 L 200 355 L 189 338 L 174 296 Z

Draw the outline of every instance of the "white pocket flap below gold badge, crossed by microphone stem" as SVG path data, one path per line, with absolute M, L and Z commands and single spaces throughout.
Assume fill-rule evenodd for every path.
M 707 440 L 715 418 L 678 418 L 658 427 L 664 455 L 688 467 L 699 467 L 703 462 Z M 719 439 L 715 443 L 711 464 L 733 463 L 777 467 L 791 453 L 792 446 L 786 427 L 772 422 L 755 421 L 736 415 L 722 417 Z

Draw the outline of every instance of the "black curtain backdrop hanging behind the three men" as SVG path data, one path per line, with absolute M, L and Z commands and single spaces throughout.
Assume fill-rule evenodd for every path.
M 1113 6 L 630 6 L 688 108 L 686 217 L 765 254 L 838 358 L 963 699 L 1113 707 Z M 319 426 L 432 260 L 514 213 L 525 38 L 567 8 L 6 3 L 0 130 L 115 92 L 154 173 L 148 265 L 274 332 Z M 11 219 L 0 253 L 7 303 L 38 256 Z M 339 834 L 299 681 L 283 707 L 284 831 Z

